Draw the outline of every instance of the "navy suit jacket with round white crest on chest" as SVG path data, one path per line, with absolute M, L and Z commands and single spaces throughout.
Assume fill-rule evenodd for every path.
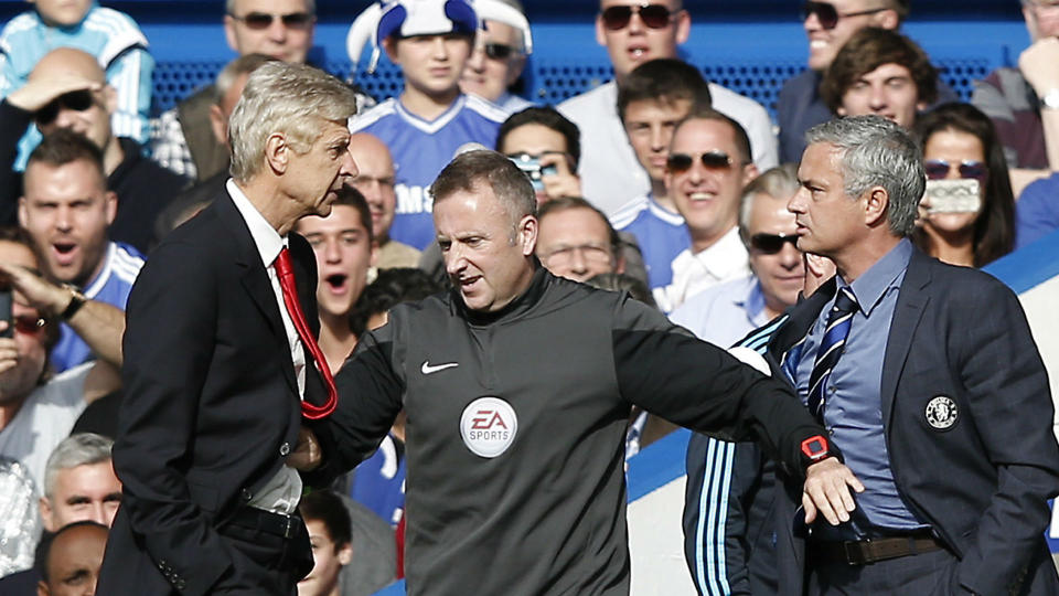
M 834 292 L 832 280 L 790 311 L 769 345 L 773 374 L 783 374 L 785 352 Z M 928 422 L 938 396 L 958 408 L 945 428 Z M 987 274 L 914 251 L 894 311 L 880 397 L 894 480 L 961 560 L 954 581 L 977 594 L 1059 594 L 1044 539 L 1047 499 L 1059 493 L 1055 408 L 1018 298 Z M 790 482 L 788 492 L 778 505 L 780 586 L 800 594 L 801 482 Z

